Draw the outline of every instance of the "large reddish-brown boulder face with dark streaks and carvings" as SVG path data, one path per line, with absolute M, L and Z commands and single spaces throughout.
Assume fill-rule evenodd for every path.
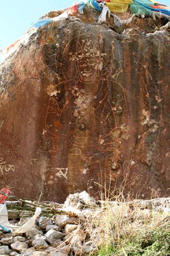
M 164 196 L 170 34 L 83 20 L 38 29 L 0 66 L 1 185 L 60 202 L 95 182 Z

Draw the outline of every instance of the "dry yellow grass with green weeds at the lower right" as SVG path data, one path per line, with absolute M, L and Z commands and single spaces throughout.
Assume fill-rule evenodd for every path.
M 164 219 L 162 213 L 141 209 L 129 196 L 125 199 L 123 189 L 117 196 L 109 193 L 101 203 L 98 218 L 92 219 L 91 226 L 98 231 L 98 249 L 97 253 L 90 255 L 170 255 L 170 218 L 165 222 Z M 91 237 L 96 242 L 93 231 L 94 228 L 91 229 Z

